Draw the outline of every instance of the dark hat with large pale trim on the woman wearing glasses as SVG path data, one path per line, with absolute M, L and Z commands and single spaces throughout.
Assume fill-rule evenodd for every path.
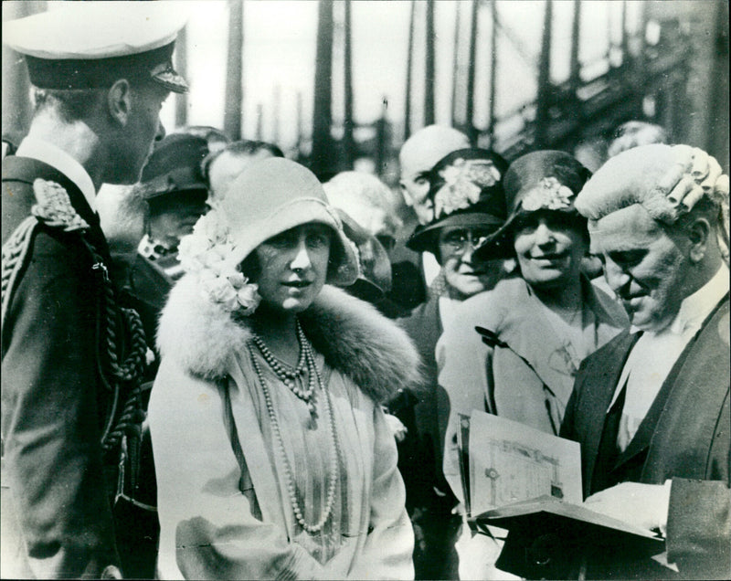
M 501 227 L 507 215 L 503 194 L 507 167 L 499 154 L 479 148 L 460 149 L 441 158 L 427 175 L 433 216 L 414 230 L 407 247 L 434 252 L 443 227 Z

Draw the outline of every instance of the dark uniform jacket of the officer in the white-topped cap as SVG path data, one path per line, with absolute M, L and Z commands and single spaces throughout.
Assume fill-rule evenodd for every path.
M 99 218 L 65 175 L 21 157 L 2 167 L 4 238 L 43 178 L 66 188 L 90 225 L 84 236 L 111 263 Z M 100 443 L 112 401 L 98 372 L 101 270 L 92 264 L 78 231 L 37 227 L 2 330 L 2 543 L 21 533 L 15 546 L 38 578 L 100 576 L 119 565 L 105 485 L 113 464 Z

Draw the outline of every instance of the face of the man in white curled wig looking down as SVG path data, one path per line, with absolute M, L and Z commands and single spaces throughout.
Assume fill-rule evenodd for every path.
M 591 231 L 591 248 L 604 262 L 609 286 L 644 331 L 661 331 L 679 311 L 688 245 L 679 228 L 663 227 L 639 205 L 600 218 Z

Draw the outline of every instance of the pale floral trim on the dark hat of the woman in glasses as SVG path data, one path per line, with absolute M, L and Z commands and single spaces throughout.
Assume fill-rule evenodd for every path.
M 476 204 L 482 189 L 495 185 L 501 175 L 490 160 L 454 160 L 440 171 L 444 185 L 434 195 L 434 217 Z

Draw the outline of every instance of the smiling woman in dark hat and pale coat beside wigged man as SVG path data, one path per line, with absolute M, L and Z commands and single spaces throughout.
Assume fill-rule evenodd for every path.
M 574 200 L 589 175 L 554 151 L 527 153 L 505 174 L 510 217 L 475 253 L 513 257 L 521 276 L 462 303 L 437 346 L 440 385 L 450 394 L 450 475 L 457 473 L 450 443 L 458 413 L 486 407 L 557 434 L 578 365 L 628 325 L 620 304 L 581 274 L 588 231 Z

